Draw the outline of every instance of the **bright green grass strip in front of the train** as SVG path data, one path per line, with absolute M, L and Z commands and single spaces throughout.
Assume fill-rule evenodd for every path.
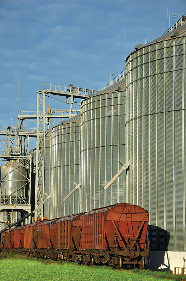
M 186 280 L 183 275 L 150 270 L 113 270 L 108 266 L 81 266 L 75 263 L 39 262 L 34 258 L 1 257 L 0 281 L 156 281 Z

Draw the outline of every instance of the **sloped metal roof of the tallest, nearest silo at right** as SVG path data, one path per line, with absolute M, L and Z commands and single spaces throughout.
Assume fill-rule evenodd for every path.
M 179 34 L 175 34 L 176 32 L 178 32 Z M 133 54 L 134 52 L 146 47 L 146 46 L 150 46 L 150 45 L 153 45 L 155 43 L 159 43 L 159 42 L 162 42 L 162 41 L 167 41 L 167 40 L 170 40 L 170 39 L 175 39 L 175 38 L 180 38 L 180 37 L 184 37 L 186 36 L 186 24 L 183 24 L 182 26 L 179 26 L 177 27 L 176 29 L 170 31 L 170 32 L 167 32 L 166 34 L 158 37 L 157 39 L 155 40 L 152 40 L 151 42 L 148 42 L 147 44 L 141 46 L 139 49 L 137 50 L 134 50 L 133 52 L 131 52 L 125 59 L 125 61 L 128 59 L 128 57 Z

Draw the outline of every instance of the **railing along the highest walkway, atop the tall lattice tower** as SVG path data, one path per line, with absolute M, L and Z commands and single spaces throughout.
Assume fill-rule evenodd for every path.
M 40 83 L 39 90 L 66 92 L 66 93 L 69 93 L 69 94 L 70 93 L 78 93 L 78 94 L 82 94 L 82 95 L 89 95 L 90 93 L 96 93 L 97 92 L 97 90 L 95 90 L 95 89 L 73 87 L 73 86 L 69 86 L 69 85 L 56 84 L 56 83 L 50 83 L 50 82 Z

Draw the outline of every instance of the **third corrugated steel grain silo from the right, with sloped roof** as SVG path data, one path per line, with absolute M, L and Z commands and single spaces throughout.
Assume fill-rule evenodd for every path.
M 63 121 L 52 129 L 51 139 L 51 218 L 79 212 L 79 190 L 66 202 L 63 199 L 80 182 L 81 114 Z

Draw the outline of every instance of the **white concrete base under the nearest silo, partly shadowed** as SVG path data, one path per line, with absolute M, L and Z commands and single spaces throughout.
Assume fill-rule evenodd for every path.
M 186 252 L 150 251 L 150 263 L 145 269 L 174 273 L 174 267 L 183 268 L 183 257 L 186 258 Z

